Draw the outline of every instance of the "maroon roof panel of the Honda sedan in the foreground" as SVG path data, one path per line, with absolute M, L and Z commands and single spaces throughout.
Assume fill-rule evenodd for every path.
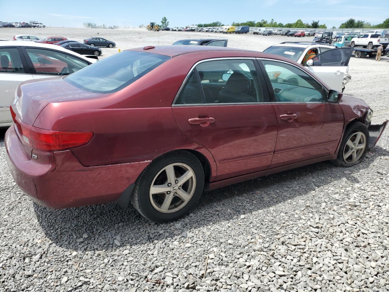
M 147 47 L 137 47 L 134 49 L 128 49 L 126 51 L 139 51 L 139 52 L 147 52 L 154 53 L 159 55 L 165 55 L 170 57 L 175 57 L 179 55 L 185 55 L 190 53 L 198 53 L 198 52 L 207 52 L 207 51 L 230 51 L 237 52 L 237 56 L 239 56 L 239 52 L 251 52 L 253 57 L 261 57 L 265 56 L 265 53 L 261 53 L 258 51 L 251 51 L 245 49 L 236 49 L 232 47 L 217 47 L 217 46 L 185 46 L 185 45 L 170 45 L 170 46 L 152 46 L 150 49 L 144 49 Z M 268 55 L 268 54 L 266 54 Z

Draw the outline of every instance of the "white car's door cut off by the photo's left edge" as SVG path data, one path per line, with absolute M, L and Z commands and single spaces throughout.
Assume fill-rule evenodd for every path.
M 22 62 L 23 60 L 23 62 Z M 0 127 L 11 125 L 9 106 L 23 81 L 33 79 L 18 47 L 0 47 Z

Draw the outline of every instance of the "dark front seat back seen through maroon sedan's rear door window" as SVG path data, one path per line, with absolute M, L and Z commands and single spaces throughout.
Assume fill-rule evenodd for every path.
M 219 92 L 219 103 L 256 102 L 247 94 L 250 82 L 242 73 L 234 72 L 228 78 L 224 90 Z

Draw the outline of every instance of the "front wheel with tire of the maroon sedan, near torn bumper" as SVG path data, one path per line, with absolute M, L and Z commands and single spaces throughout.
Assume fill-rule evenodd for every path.
M 353 123 L 344 133 L 338 157 L 331 162 L 342 167 L 350 167 L 360 163 L 368 150 L 369 138 L 369 130 L 365 124 Z

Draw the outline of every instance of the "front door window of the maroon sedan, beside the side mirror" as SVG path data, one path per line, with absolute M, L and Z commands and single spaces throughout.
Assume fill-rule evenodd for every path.
M 277 102 L 325 102 L 323 86 L 303 70 L 292 65 L 262 61 L 272 83 Z

